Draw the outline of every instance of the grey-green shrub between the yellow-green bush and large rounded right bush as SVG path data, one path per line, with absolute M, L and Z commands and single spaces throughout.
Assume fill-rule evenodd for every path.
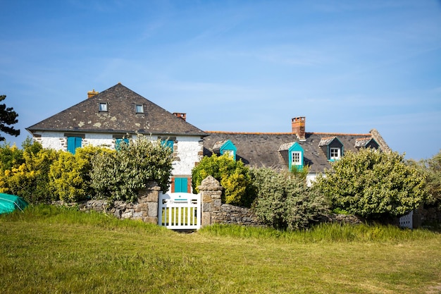
M 251 169 L 257 197 L 256 217 L 268 226 L 290 231 L 304 229 L 328 213 L 325 197 L 306 180 L 273 169 Z

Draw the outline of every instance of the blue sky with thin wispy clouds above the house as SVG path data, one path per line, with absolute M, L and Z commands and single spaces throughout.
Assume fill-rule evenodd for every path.
M 0 94 L 25 128 L 121 82 L 201 130 L 441 149 L 441 2 L 4 1 Z

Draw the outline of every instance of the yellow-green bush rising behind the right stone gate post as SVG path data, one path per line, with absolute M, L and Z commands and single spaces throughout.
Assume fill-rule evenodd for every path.
M 228 154 L 218 157 L 204 157 L 192 169 L 193 192 L 199 193 L 198 186 L 207 176 L 213 176 L 223 187 L 222 202 L 250 207 L 255 193 L 249 168 L 242 161 L 235 161 Z

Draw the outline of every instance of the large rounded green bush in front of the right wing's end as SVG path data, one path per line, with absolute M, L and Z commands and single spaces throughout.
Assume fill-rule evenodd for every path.
M 426 176 L 397 152 L 360 149 L 335 161 L 316 185 L 333 208 L 377 219 L 416 209 L 426 196 Z

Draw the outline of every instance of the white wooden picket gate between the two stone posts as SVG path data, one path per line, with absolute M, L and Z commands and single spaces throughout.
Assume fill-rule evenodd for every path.
M 194 230 L 201 227 L 201 195 L 159 192 L 158 224 L 173 230 Z

